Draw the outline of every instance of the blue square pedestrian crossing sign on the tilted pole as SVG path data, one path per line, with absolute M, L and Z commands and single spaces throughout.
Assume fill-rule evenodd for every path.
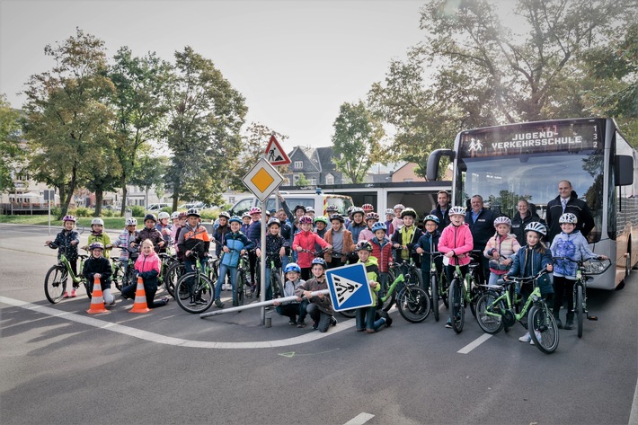
M 326 270 L 330 297 L 334 311 L 373 305 L 372 289 L 368 285 L 368 274 L 363 263 Z

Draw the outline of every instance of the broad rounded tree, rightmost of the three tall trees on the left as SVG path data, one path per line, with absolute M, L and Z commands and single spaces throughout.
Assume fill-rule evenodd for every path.
M 231 164 L 242 149 L 244 97 L 211 60 L 191 47 L 175 52 L 175 69 L 166 132 L 173 156 L 165 175 L 167 189 L 173 191 L 173 209 L 181 198 L 219 203 Z

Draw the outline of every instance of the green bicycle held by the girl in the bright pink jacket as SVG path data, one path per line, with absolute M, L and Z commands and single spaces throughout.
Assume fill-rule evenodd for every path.
M 472 253 L 476 252 L 480 251 L 472 251 Z M 470 252 L 465 255 L 469 254 Z M 458 257 L 453 255 L 452 258 L 456 259 L 456 265 L 448 289 L 448 303 L 450 306 L 449 320 L 452 323 L 454 332 L 461 333 L 463 332 L 463 326 L 465 324 L 465 307 L 467 305 L 470 305 L 470 310 L 474 317 L 476 317 L 476 302 L 481 295 L 479 287 L 481 279 L 478 277 L 480 263 L 470 262 L 468 264 L 469 271 L 464 277 L 461 272 L 461 266 L 458 265 Z M 463 282 L 463 284 L 461 284 L 461 282 Z

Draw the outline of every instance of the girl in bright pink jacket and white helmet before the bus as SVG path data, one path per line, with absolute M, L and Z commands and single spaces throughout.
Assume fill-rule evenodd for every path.
M 470 254 L 474 246 L 470 226 L 465 223 L 465 208 L 449 208 L 450 224 L 446 226 L 439 237 L 439 251 L 444 252 L 449 260 L 446 266 L 447 281 L 451 282 L 456 264 L 461 266 L 463 276 L 469 271 Z M 456 258 L 455 258 L 456 257 Z M 452 320 L 447 319 L 446 328 L 452 327 Z

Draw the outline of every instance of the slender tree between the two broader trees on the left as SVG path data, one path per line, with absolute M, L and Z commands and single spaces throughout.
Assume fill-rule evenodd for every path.
M 117 110 L 115 121 L 115 154 L 121 164 L 121 214 L 124 215 L 128 177 L 136 167 L 137 155 L 146 143 L 161 135 L 172 67 L 154 53 L 135 58 L 128 47 L 118 50 L 109 76 L 115 85 L 113 103 Z

